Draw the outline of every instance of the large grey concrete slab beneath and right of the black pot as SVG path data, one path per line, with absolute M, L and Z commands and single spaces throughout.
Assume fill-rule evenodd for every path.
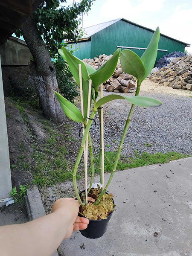
M 105 235 L 93 240 L 75 232 L 59 255 L 192 255 L 192 157 L 116 172 L 109 190 L 116 212 Z

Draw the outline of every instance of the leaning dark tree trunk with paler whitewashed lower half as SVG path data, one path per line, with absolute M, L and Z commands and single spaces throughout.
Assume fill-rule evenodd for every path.
M 55 98 L 55 91 L 58 92 L 58 84 L 55 67 L 52 64 L 46 44 L 41 38 L 32 17 L 28 17 L 22 23 L 20 29 L 35 61 L 35 65 L 30 66 L 32 68 L 30 79 L 38 90 L 44 116 L 54 122 L 63 122 L 66 116 Z

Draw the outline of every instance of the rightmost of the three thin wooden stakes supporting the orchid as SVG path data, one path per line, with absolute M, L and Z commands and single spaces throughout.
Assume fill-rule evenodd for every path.
M 100 98 L 103 97 L 103 85 L 100 84 Z M 102 190 L 105 188 L 104 183 L 104 125 L 103 125 L 103 105 L 101 106 L 101 146 L 102 146 Z

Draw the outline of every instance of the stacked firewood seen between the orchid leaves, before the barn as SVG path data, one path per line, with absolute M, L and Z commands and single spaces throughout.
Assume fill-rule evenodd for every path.
M 101 54 L 93 59 L 83 59 L 84 62 L 93 66 L 96 70 L 108 61 L 113 55 Z M 124 73 L 121 68 L 120 60 L 117 63 L 113 76 L 103 83 L 103 90 L 115 93 L 134 93 L 136 91 L 137 82 L 134 76 Z

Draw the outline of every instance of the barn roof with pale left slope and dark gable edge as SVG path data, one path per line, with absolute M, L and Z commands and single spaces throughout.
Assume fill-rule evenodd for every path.
M 137 24 L 137 23 L 134 23 L 134 22 L 132 22 L 132 21 L 130 21 L 130 20 L 126 20 L 126 19 L 124 19 L 124 18 L 119 18 L 119 19 L 110 20 L 110 21 L 107 21 L 107 22 L 99 23 L 99 24 L 96 24 L 96 25 L 93 25 L 93 26 L 89 26 L 89 27 L 87 27 L 87 28 L 84 28 L 85 37 L 82 38 L 82 39 L 88 39 L 88 38 L 90 38 L 92 35 L 96 34 L 97 32 L 101 31 L 102 29 L 105 29 L 105 28 L 108 27 L 108 26 L 111 26 L 113 23 L 116 23 L 116 22 L 119 21 L 119 20 L 124 20 L 125 22 L 131 23 L 131 24 L 133 24 L 133 25 L 135 25 L 135 26 L 138 26 L 138 27 L 140 27 L 140 28 L 147 29 L 147 30 L 149 30 L 149 31 L 151 31 L 151 32 L 154 32 L 153 29 L 146 28 L 146 27 L 141 26 L 141 25 L 139 25 L 139 24 Z M 160 34 L 160 35 L 162 35 L 162 36 L 164 36 L 164 37 L 166 37 L 166 38 L 169 38 L 169 39 L 171 39 L 171 40 L 177 41 L 177 42 L 179 42 L 179 43 L 181 43 L 181 44 L 185 44 L 186 47 L 189 47 L 189 46 L 190 46 L 190 44 L 187 44 L 187 43 L 185 43 L 185 42 L 179 41 L 179 40 L 177 40 L 177 39 L 175 39 L 175 38 L 171 38 L 171 37 L 169 37 L 169 36 L 167 36 L 167 35 L 163 35 L 163 34 Z

